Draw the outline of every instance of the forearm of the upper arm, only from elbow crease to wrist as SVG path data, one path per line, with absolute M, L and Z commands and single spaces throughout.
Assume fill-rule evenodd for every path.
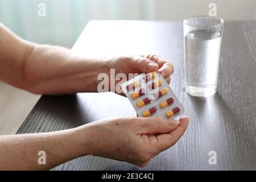
M 24 89 L 38 94 L 97 92 L 97 76 L 108 72 L 107 67 L 104 59 L 86 59 L 62 47 L 35 45 L 26 59 Z

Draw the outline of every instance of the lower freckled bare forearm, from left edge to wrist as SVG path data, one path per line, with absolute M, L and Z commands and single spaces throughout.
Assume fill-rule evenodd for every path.
M 86 126 L 51 133 L 0 136 L 0 170 L 51 169 L 68 160 L 87 155 Z M 46 164 L 39 164 L 39 151 Z

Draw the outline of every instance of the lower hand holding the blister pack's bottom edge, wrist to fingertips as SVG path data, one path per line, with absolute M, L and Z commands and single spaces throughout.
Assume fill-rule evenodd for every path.
M 108 118 L 80 126 L 85 155 L 102 156 L 144 167 L 150 159 L 173 146 L 184 134 L 188 117 Z M 83 136 L 83 137 L 81 137 Z

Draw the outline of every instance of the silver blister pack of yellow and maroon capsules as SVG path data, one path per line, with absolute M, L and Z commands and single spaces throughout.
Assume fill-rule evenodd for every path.
M 184 113 L 183 106 L 158 72 L 143 73 L 121 84 L 121 88 L 139 117 L 173 119 Z

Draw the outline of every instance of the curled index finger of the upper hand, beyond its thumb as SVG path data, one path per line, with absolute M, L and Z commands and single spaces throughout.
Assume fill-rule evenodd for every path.
M 165 60 L 158 55 L 147 55 L 146 57 L 159 65 L 158 71 L 164 78 L 169 77 L 174 73 L 174 65 L 172 65 L 168 60 Z

